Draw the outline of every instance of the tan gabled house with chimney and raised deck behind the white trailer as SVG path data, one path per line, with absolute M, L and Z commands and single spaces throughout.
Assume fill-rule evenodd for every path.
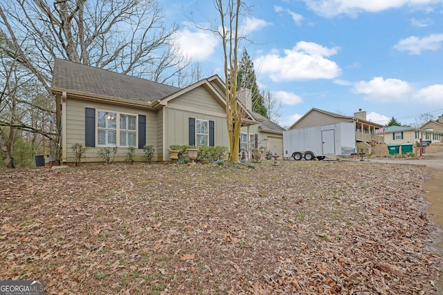
M 354 117 L 350 117 L 323 111 L 318 108 L 311 108 L 297 122 L 292 124 L 289 129 L 323 126 L 341 122 L 354 122 L 357 142 L 383 143 L 383 137 L 378 134 L 379 129 L 383 125 L 366 120 L 366 112 L 361 110 L 354 113 Z

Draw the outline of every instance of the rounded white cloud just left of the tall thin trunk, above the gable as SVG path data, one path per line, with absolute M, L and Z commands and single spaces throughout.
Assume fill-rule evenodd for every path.
M 215 52 L 219 39 L 213 32 L 203 30 L 191 32 L 185 28 L 177 32 L 177 43 L 183 55 L 190 57 L 192 61 L 205 61 Z

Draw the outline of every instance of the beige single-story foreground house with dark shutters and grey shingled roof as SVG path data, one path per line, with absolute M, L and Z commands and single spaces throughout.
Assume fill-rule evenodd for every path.
M 155 161 L 170 160 L 172 144 L 229 146 L 224 82 L 218 76 L 177 88 L 55 59 L 51 90 L 62 162 L 74 162 L 76 143 L 89 147 L 85 162 L 102 162 L 97 152 L 110 146 L 118 147 L 116 162 L 125 161 L 128 146 L 137 148 L 134 160 L 144 160 L 145 144 L 154 146 Z M 272 137 L 273 131 L 260 129 L 266 120 L 244 113 L 248 140 Z

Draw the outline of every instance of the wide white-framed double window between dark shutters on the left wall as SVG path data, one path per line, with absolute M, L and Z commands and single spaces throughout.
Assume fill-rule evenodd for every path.
M 98 146 L 136 146 L 136 115 L 97 111 L 97 118 Z

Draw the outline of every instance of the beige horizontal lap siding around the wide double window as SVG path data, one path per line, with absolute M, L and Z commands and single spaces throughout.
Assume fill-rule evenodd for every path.
M 152 111 L 145 111 L 139 108 L 129 108 L 125 106 L 116 106 L 111 104 L 101 104 L 97 102 L 87 102 L 80 99 L 72 99 L 68 97 L 66 99 L 66 145 L 64 146 L 63 158 L 66 162 L 75 162 L 71 146 L 76 143 L 84 144 L 84 128 L 85 128 L 85 108 L 95 108 L 96 111 L 111 111 L 116 113 L 127 113 L 146 116 L 146 144 L 152 144 L 158 146 L 157 141 L 157 129 L 152 128 L 152 126 L 157 126 L 157 115 Z M 97 126 L 97 122 L 96 122 Z M 96 128 L 96 127 L 95 127 Z M 64 135 L 66 136 L 66 135 Z M 97 132 L 96 132 L 97 136 Z M 138 134 L 137 134 L 138 139 Z M 97 139 L 96 139 L 97 142 Z M 138 140 L 137 140 L 138 143 Z M 98 155 L 98 151 L 104 146 L 89 147 L 87 153 L 84 156 L 82 162 L 104 162 L 102 158 Z M 157 152 L 156 152 L 157 153 Z M 116 153 L 115 162 L 125 162 L 127 158 L 127 147 L 119 146 Z M 136 156 L 134 157 L 136 161 L 143 161 L 144 153 L 143 149 L 136 149 Z M 154 157 L 153 160 L 156 160 Z

